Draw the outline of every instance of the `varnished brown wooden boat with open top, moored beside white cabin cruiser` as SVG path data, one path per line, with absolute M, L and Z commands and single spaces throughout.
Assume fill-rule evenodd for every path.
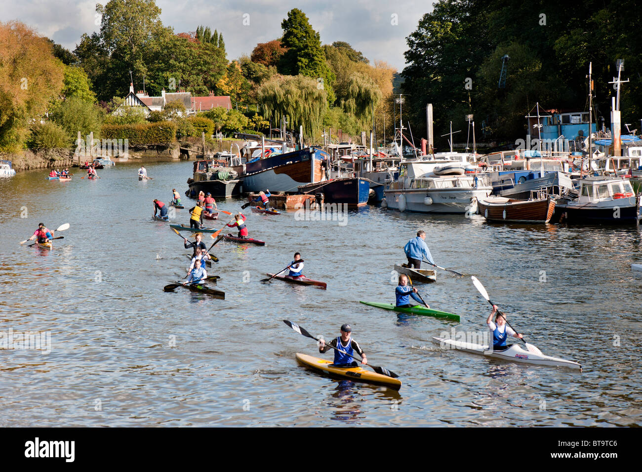
M 555 200 L 551 197 L 534 200 L 486 197 L 477 201 L 477 211 L 494 222 L 548 223 L 555 211 Z

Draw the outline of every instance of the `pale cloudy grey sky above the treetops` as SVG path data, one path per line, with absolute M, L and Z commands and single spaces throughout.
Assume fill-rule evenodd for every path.
M 96 0 L 21 0 L 1 2 L 0 21 L 18 20 L 73 51 L 82 33 L 100 29 Z M 175 33 L 202 24 L 223 33 L 227 58 L 252 53 L 259 42 L 281 37 L 281 21 L 299 8 L 322 44 L 346 41 L 365 57 L 401 71 L 406 37 L 417 28 L 433 1 L 413 0 L 156 0 L 160 20 Z

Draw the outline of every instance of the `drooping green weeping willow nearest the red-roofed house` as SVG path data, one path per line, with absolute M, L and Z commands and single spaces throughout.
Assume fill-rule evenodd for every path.
M 279 123 L 288 116 L 292 128 L 302 126 L 309 136 L 320 130 L 327 109 L 327 92 L 317 80 L 303 75 L 273 76 L 259 87 L 257 98 L 270 121 Z

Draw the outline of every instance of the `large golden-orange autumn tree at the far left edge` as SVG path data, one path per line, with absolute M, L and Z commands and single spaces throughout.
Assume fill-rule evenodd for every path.
M 0 22 L 0 151 L 22 148 L 28 121 L 42 116 L 64 78 L 48 39 L 21 22 Z

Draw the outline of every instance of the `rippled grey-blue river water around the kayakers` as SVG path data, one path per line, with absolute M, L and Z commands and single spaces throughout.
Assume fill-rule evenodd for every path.
M 96 181 L 78 169 L 71 182 L 44 180 L 43 170 L 0 179 L 0 340 L 42 335 L 40 350 L 0 350 L 0 426 L 642 424 L 642 275 L 630 269 L 642 262 L 638 228 L 375 207 L 341 221 L 247 213 L 250 236 L 267 244 L 214 247 L 220 262 L 209 273 L 221 276 L 223 301 L 162 291 L 189 261 L 167 223 L 152 221 L 152 200 L 168 202 L 172 188 L 184 195 L 192 164 L 146 161 L 154 180 L 144 182 L 139 165 L 119 163 Z M 218 203 L 236 211 L 244 201 Z M 187 210 L 172 219 L 187 223 Z M 39 222 L 71 227 L 51 251 L 19 245 Z M 485 329 L 490 306 L 469 277 L 438 272 L 418 286 L 432 308 L 460 314 L 459 326 L 358 303 L 394 302 L 393 266 L 418 229 L 439 265 L 476 275 L 528 341 L 584 372 L 433 344 L 444 331 Z M 327 291 L 259 282 L 295 251 Z M 297 352 L 332 354 L 315 354 L 283 319 L 326 339 L 350 323 L 369 361 L 400 374 L 401 390 L 299 367 Z

